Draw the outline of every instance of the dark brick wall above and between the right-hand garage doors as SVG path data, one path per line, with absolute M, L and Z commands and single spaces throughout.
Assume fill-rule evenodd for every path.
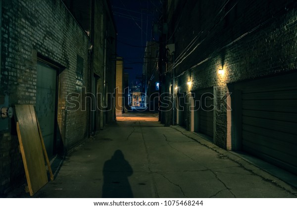
M 217 101 L 225 107 L 215 112 L 214 142 L 227 148 L 227 106 L 219 96 L 229 83 L 296 71 L 297 11 L 292 0 L 224 2 L 179 1 L 175 16 L 168 19 L 168 41 L 175 43 L 181 92 L 221 87 Z

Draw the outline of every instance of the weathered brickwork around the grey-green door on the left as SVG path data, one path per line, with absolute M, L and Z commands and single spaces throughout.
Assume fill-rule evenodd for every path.
M 87 136 L 86 111 L 66 111 L 66 97 L 77 93 L 77 55 L 83 58 L 83 86 L 90 88 L 89 39 L 61 0 L 3 0 L 0 91 L 9 104 L 35 104 L 37 58 L 65 69 L 58 75 L 58 129 L 70 148 Z M 88 106 L 88 104 L 86 104 Z M 9 132 L 15 131 L 11 127 Z M 0 194 L 23 176 L 16 136 L 0 133 Z

